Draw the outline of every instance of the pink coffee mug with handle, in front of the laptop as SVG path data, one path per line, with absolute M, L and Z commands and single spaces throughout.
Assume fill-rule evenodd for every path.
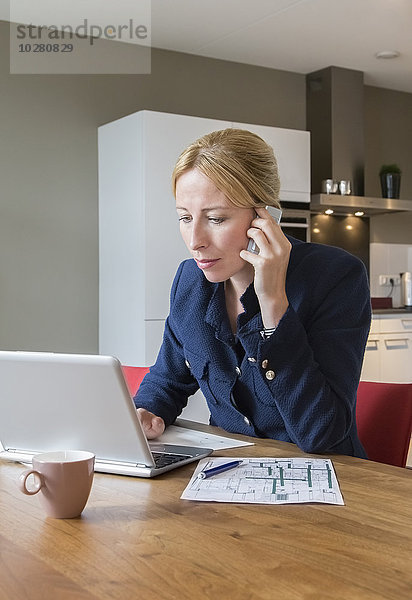
M 49 517 L 78 517 L 86 506 L 92 487 L 94 459 L 92 452 L 83 450 L 38 454 L 33 457 L 33 468 L 20 475 L 20 490 L 29 496 L 41 492 L 40 500 Z M 29 475 L 35 479 L 32 489 L 27 487 Z

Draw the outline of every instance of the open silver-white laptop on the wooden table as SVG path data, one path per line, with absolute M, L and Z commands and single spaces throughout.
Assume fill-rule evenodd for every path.
M 1 458 L 89 450 L 96 471 L 154 477 L 213 451 L 149 443 L 112 356 L 0 351 L 0 382 Z

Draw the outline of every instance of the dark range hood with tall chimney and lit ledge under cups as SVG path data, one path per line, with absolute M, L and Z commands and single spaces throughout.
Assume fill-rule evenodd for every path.
M 365 216 L 412 211 L 412 200 L 364 196 L 363 73 L 328 67 L 306 76 L 306 121 L 311 133 L 311 210 Z M 322 194 L 322 180 L 351 181 L 353 196 Z

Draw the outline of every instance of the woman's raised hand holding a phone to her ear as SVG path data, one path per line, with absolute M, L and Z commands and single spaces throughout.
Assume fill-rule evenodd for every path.
M 289 306 L 285 282 L 292 245 L 265 208 L 255 210 L 258 217 L 253 219 L 247 235 L 260 252 L 242 250 L 240 256 L 255 269 L 254 287 L 263 325 L 271 328 L 278 325 Z

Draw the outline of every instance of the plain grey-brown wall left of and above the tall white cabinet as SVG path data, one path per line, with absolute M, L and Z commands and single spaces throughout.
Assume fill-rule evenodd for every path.
M 0 23 L 0 348 L 98 349 L 97 127 L 141 109 L 305 128 L 305 78 L 153 50 L 152 74 L 9 74 Z

